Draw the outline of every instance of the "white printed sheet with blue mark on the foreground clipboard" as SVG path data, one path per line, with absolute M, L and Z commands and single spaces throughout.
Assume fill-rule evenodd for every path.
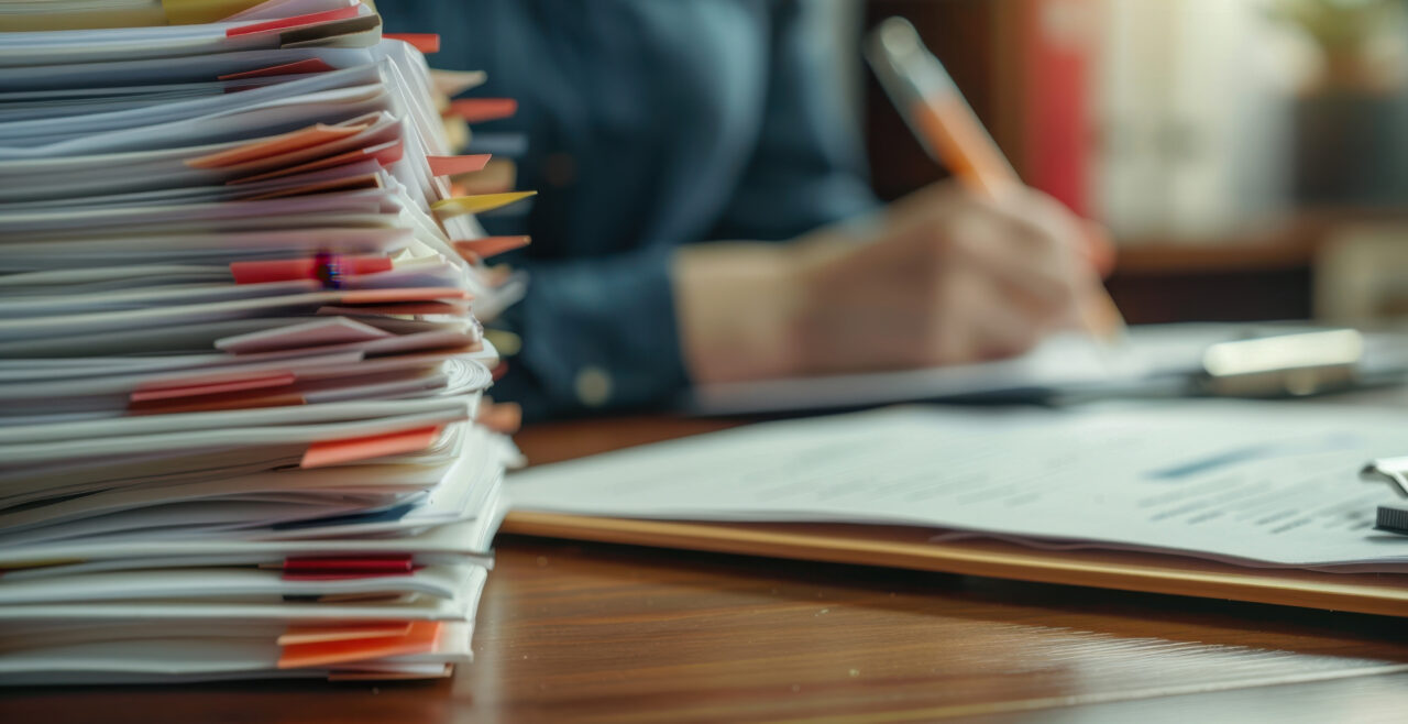
M 1081 410 L 895 407 L 765 423 L 531 468 L 514 510 L 928 525 L 936 539 L 1408 572 L 1357 480 L 1408 413 L 1197 400 Z

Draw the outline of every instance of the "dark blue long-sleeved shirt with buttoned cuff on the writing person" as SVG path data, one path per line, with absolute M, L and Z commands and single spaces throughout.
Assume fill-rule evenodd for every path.
M 382 0 L 389 32 L 438 32 L 435 68 L 518 99 L 474 134 L 524 134 L 531 275 L 494 396 L 528 418 L 669 403 L 687 385 L 676 246 L 786 239 L 874 204 L 831 48 L 805 0 Z

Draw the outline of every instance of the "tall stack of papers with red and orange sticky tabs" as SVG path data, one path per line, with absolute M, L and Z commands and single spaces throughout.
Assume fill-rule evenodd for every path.
M 445 676 L 517 456 L 473 213 L 521 194 L 452 194 L 486 159 L 367 6 L 149 4 L 245 7 L 0 34 L 0 682 Z

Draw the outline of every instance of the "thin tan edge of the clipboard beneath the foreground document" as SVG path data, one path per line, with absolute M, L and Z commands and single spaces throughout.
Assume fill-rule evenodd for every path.
M 500 532 L 1408 617 L 1408 573 L 1245 568 L 1170 554 L 1043 551 L 995 539 L 932 542 L 936 530 L 922 527 L 513 511 Z

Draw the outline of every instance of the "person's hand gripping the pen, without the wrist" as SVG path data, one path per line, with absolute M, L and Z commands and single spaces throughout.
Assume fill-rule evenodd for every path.
M 1024 190 L 939 185 L 894 204 L 862 244 L 798 242 L 798 372 L 919 368 L 1025 352 L 1083 324 L 1100 277 L 1084 223 Z

